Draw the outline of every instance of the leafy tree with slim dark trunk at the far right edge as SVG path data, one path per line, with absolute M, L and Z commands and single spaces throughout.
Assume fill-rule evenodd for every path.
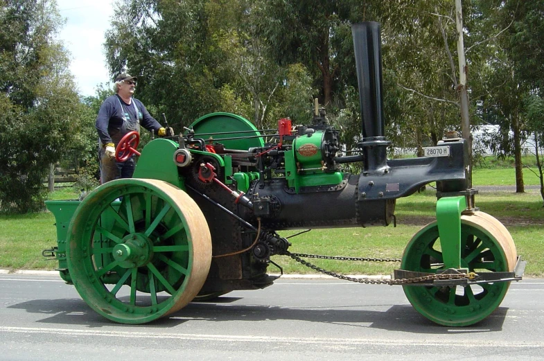
M 500 125 L 491 146 L 500 156 L 514 155 L 516 192 L 520 193 L 525 190 L 521 144 L 533 131 L 527 123 L 525 99 L 542 96 L 544 3 L 494 0 L 479 1 L 478 6 L 489 40 L 481 99 L 486 113 L 494 115 L 492 122 Z

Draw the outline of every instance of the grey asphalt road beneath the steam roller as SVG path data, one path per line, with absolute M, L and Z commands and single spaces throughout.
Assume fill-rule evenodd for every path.
M 0 275 L 0 360 L 542 360 L 544 280 L 513 283 L 493 315 L 448 328 L 400 286 L 281 279 L 125 326 L 57 277 Z

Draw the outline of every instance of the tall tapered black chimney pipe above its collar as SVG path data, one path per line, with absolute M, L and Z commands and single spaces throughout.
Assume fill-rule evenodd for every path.
M 359 85 L 363 142 L 383 139 L 385 132 L 380 24 L 374 21 L 353 24 L 351 33 Z

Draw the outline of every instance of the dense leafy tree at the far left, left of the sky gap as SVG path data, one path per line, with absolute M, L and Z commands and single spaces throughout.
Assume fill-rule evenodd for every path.
M 78 97 L 48 0 L 0 2 L 0 209 L 40 209 L 44 176 L 69 148 Z

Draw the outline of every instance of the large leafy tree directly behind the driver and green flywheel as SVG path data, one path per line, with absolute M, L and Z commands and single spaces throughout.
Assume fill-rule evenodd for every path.
M 164 112 L 176 129 L 218 111 L 267 127 L 290 116 L 283 111 L 301 97 L 310 109 L 313 91 L 290 91 L 306 83 L 307 69 L 288 71 L 273 61 L 257 28 L 260 4 L 118 1 L 119 16 L 105 44 L 112 75 L 127 70 L 139 76 L 137 97 L 152 114 Z

